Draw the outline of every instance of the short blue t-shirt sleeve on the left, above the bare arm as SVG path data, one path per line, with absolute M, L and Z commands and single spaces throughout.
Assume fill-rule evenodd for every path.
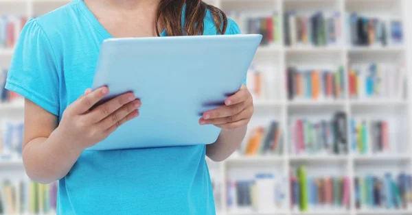
M 14 49 L 5 88 L 58 116 L 59 78 L 49 38 L 35 19 L 26 23 Z

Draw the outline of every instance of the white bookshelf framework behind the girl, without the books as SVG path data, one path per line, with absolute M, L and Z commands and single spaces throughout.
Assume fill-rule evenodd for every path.
M 21 15 L 21 16 L 38 16 L 50 10 L 58 8 L 69 2 L 68 0 L 0 0 L 0 16 L 2 15 Z M 402 99 L 350 99 L 349 84 L 347 73 L 350 70 L 352 62 L 370 63 L 370 62 L 404 62 L 407 71 L 411 70 L 412 57 L 409 52 L 412 50 L 408 43 L 407 36 L 412 35 L 410 32 L 412 20 L 407 16 L 409 11 L 406 8 L 412 8 L 412 2 L 407 0 L 209 0 L 207 3 L 217 5 L 231 16 L 233 12 L 244 14 L 256 14 L 261 12 L 277 12 L 280 23 L 284 26 L 283 14 L 287 12 L 308 13 L 315 11 L 322 12 L 339 12 L 341 14 L 342 40 L 336 45 L 314 47 L 314 46 L 286 46 L 284 45 L 284 32 L 281 30 L 279 41 L 271 45 L 260 47 L 255 56 L 254 62 L 264 68 L 271 78 L 271 88 L 264 99 L 255 99 L 255 115 L 251 121 L 250 127 L 258 125 L 267 125 L 271 120 L 276 120 L 282 129 L 284 136 L 284 149 L 280 155 L 255 155 L 247 157 L 235 153 L 225 162 L 214 163 L 207 160 L 211 172 L 211 177 L 217 181 L 216 205 L 218 214 L 222 215 L 252 215 L 252 214 L 336 214 L 336 215 L 373 215 L 373 214 L 412 214 L 412 207 L 407 210 L 374 210 L 374 209 L 356 209 L 354 197 L 353 179 L 355 176 L 374 173 L 386 170 L 404 170 L 412 173 L 412 151 L 410 142 L 411 135 L 408 132 L 410 128 L 411 113 L 409 97 Z M 358 12 L 365 16 L 378 16 L 382 18 L 398 18 L 403 23 L 404 43 L 402 45 L 371 46 L 371 47 L 354 47 L 349 42 L 346 20 L 346 12 Z M 238 20 L 237 20 L 238 21 Z M 244 31 L 244 26 L 240 25 Z M 282 27 L 283 29 L 283 27 Z M 409 47 L 407 46 L 409 45 Z M 0 68 L 10 64 L 12 49 L 0 49 Z M 343 66 L 345 77 L 343 77 L 345 90 L 342 99 L 338 100 L 293 100 L 288 99 L 288 90 L 286 88 L 286 69 L 293 65 L 328 65 Z M 411 76 L 408 75 L 409 80 Z M 408 84 L 409 85 L 409 81 Z M 406 94 L 411 93 L 411 88 L 407 89 Z M 328 115 L 336 111 L 346 113 L 347 119 L 352 117 L 376 117 L 385 115 L 393 118 L 398 125 L 396 132 L 396 142 L 398 142 L 398 151 L 391 154 L 382 155 L 358 155 L 350 150 L 344 155 L 310 155 L 310 154 L 291 154 L 288 146 L 291 140 L 290 119 L 297 116 L 319 116 Z M 22 118 L 22 103 L 0 103 L 0 121 L 2 118 Z M 347 140 L 351 140 L 350 123 L 347 123 Z M 316 174 L 338 174 L 350 178 L 350 207 L 349 210 L 312 210 L 310 212 L 298 212 L 290 210 L 290 181 L 288 175 L 290 170 L 296 166 L 306 165 L 310 173 Z M 240 208 L 231 210 L 227 204 L 227 183 L 228 179 L 247 179 L 253 177 L 256 173 L 273 173 L 286 177 L 284 182 L 285 197 L 283 209 L 277 209 L 270 212 L 253 211 L 249 208 Z M 23 164 L 21 160 L 0 161 L 0 175 L 18 175 L 23 174 Z

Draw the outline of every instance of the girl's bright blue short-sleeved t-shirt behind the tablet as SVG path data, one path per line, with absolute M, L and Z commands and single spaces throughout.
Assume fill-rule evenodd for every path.
M 205 35 L 216 34 L 210 12 L 204 23 Z M 239 34 L 230 19 L 227 34 Z M 82 0 L 31 19 L 16 45 L 6 88 L 60 120 L 91 87 L 107 38 L 112 36 Z M 215 214 L 203 145 L 84 151 L 58 188 L 58 214 Z

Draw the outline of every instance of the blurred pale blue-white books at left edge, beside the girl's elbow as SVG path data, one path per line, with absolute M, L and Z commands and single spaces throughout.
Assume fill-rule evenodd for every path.
M 23 121 L 0 122 L 0 160 L 21 157 L 23 145 Z

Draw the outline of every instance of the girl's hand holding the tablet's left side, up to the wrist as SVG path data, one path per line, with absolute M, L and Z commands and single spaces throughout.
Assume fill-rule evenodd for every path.
M 78 149 L 87 149 L 104 140 L 120 125 L 139 115 L 137 108 L 140 108 L 141 102 L 131 92 L 119 95 L 90 110 L 106 94 L 107 87 L 93 92 L 87 90 L 65 110 L 58 126 L 58 134 L 69 144 L 75 144 Z

